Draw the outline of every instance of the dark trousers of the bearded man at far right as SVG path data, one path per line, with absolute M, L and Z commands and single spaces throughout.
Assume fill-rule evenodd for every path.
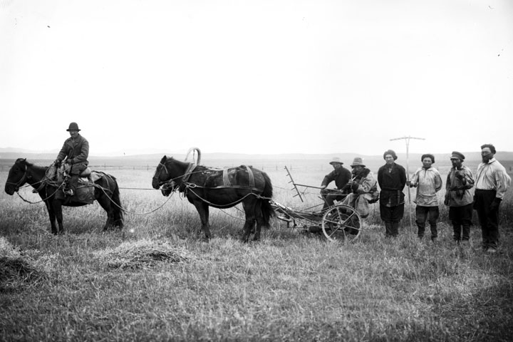
M 475 190 L 474 209 L 481 226 L 482 247 L 497 248 L 499 244 L 499 207 L 490 209 L 497 192 L 495 190 Z

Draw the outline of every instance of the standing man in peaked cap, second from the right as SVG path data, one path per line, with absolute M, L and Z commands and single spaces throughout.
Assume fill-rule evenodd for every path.
M 470 225 L 472 224 L 472 194 L 474 177 L 470 168 L 463 166 L 465 155 L 453 151 L 450 161 L 452 167 L 445 182 L 444 204 L 449 206 L 449 219 L 452 223 L 452 239 L 459 244 L 468 245 Z

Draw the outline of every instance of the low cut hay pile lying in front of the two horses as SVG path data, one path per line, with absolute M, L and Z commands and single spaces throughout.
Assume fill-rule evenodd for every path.
M 95 253 L 95 257 L 108 267 L 115 269 L 138 269 L 155 266 L 161 261 L 181 262 L 190 259 L 187 251 L 181 247 L 174 247 L 169 242 L 146 239 L 123 242 L 115 249 L 105 249 Z

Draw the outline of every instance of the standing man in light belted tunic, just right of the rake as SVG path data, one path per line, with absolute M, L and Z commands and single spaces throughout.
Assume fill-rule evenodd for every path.
M 437 219 L 440 216 L 437 192 L 442 189 L 442 177 L 440 177 L 440 172 L 432 167 L 435 163 L 434 155 L 427 153 L 420 160 L 423 162 L 423 166 L 415 171 L 408 185 L 417 188 L 417 195 L 413 202 L 417 204 L 417 207 L 415 207 L 417 216 L 415 223 L 418 227 L 418 237 L 423 239 L 425 222 L 429 220 L 431 241 L 435 242 L 438 237 Z

